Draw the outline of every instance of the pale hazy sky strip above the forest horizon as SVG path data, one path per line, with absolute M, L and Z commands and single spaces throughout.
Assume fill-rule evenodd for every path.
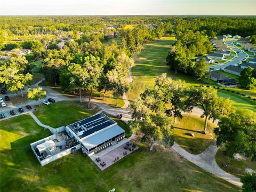
M 0 15 L 256 15 L 256 0 L 0 0 Z

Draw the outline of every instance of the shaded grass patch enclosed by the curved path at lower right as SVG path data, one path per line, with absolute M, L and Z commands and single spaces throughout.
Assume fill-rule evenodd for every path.
M 256 162 L 251 162 L 248 159 L 230 159 L 226 154 L 222 153 L 225 151 L 225 147 L 220 148 L 216 153 L 216 162 L 224 171 L 235 175 L 238 178 L 243 177 L 246 174 L 245 169 L 252 169 L 256 171 Z M 227 167 L 223 167 L 222 163 L 227 163 Z

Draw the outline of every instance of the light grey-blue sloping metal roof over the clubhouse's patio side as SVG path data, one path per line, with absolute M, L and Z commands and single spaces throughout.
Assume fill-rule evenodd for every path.
M 118 134 L 124 133 L 125 131 L 118 125 L 114 125 L 107 130 L 101 131 L 90 138 L 84 139 L 81 143 L 90 150 L 91 148 L 100 145 L 101 143 L 115 137 Z

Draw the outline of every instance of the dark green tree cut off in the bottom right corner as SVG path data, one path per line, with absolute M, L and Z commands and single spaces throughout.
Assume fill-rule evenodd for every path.
M 243 192 L 256 192 L 256 174 L 247 173 L 241 178 Z

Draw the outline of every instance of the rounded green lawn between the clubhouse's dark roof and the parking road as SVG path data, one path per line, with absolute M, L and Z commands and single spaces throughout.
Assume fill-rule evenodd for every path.
M 34 114 L 45 125 L 54 128 L 66 126 L 86 117 L 92 116 L 100 109 L 88 109 L 87 102 L 59 101 L 48 106 L 36 106 Z

